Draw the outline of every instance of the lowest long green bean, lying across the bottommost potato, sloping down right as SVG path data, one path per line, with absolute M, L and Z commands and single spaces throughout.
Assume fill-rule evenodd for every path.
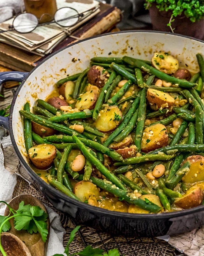
M 116 197 L 121 198 L 123 200 L 125 200 L 126 202 L 129 202 L 131 204 L 135 204 L 137 205 L 139 208 L 143 209 L 143 210 L 147 210 L 149 212 L 158 212 L 160 211 L 160 207 L 156 204 L 153 204 L 151 202 L 146 203 L 145 200 L 142 200 L 140 198 L 135 198 L 132 199 L 130 196 L 128 196 L 128 193 L 126 193 L 126 191 L 114 187 L 112 184 L 107 183 L 104 180 L 95 178 L 95 177 L 90 177 L 92 183 L 94 183 L 97 187 L 100 187 L 106 191 L 108 191 L 109 193 L 114 194 Z

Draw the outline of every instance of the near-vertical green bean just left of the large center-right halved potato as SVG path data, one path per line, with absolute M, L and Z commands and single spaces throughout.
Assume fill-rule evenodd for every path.
M 145 119 L 146 119 L 146 94 L 147 89 L 143 88 L 139 103 L 139 113 L 138 113 L 138 119 L 136 124 L 136 131 L 135 131 L 135 146 L 137 147 L 137 151 L 141 151 L 141 141 L 142 141 L 142 133 L 143 129 L 145 127 Z

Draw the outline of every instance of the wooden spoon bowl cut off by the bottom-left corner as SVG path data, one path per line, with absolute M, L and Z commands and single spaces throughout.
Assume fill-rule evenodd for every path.
M 7 256 L 31 256 L 28 247 L 12 233 L 1 233 L 1 245 Z M 2 256 L 1 252 L 0 256 Z

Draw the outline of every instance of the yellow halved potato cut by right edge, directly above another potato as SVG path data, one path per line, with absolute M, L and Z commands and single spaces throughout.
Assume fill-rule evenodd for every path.
M 189 156 L 183 163 L 186 161 L 190 162 L 190 170 L 183 176 L 182 181 L 191 184 L 204 181 L 204 156 Z

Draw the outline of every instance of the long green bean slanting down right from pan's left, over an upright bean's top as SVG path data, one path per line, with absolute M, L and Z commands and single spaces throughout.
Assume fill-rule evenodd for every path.
M 64 132 L 66 134 L 69 134 L 69 135 L 72 135 L 73 132 L 74 132 L 74 133 L 77 133 L 80 138 L 86 138 L 85 136 L 83 136 L 81 133 L 79 133 L 77 131 L 74 131 L 74 130 L 68 128 L 68 127 L 65 127 L 64 125 L 59 125 L 59 124 L 52 123 L 52 122 L 50 122 L 48 120 L 45 120 L 41 117 L 38 117 L 38 116 L 36 116 L 32 113 L 29 113 L 28 111 L 20 110 L 19 112 L 22 116 L 32 120 L 33 122 L 35 122 L 39 125 L 44 125 L 46 127 L 53 128 L 57 131 L 61 131 L 61 132 Z

